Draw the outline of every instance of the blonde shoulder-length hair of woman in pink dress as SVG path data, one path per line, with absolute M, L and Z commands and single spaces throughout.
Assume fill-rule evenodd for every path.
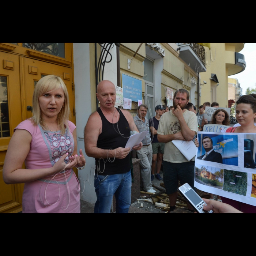
M 65 133 L 65 129 L 68 128 L 68 120 L 70 115 L 69 109 L 69 98 L 68 98 L 68 90 L 65 86 L 63 80 L 59 76 L 49 75 L 40 79 L 35 86 L 34 94 L 33 94 L 33 113 L 34 116 L 31 118 L 35 125 L 41 125 L 44 129 L 48 129 L 45 127 L 45 121 L 41 116 L 41 109 L 39 106 L 39 97 L 41 97 L 44 93 L 49 91 L 55 91 L 58 89 L 62 89 L 65 95 L 64 107 L 61 108 L 60 113 L 57 116 L 58 125 L 61 128 L 61 134 Z

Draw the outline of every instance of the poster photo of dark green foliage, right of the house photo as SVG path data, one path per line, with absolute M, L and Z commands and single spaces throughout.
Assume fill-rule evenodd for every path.
M 246 196 L 248 173 L 224 170 L 223 191 Z

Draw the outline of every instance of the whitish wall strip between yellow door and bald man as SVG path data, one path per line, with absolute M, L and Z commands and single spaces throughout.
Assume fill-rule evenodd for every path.
M 89 43 L 73 43 L 74 45 L 74 81 L 75 81 L 75 104 L 76 104 L 76 131 L 78 137 L 78 150 L 84 151 L 84 127 L 91 114 L 91 85 L 90 85 L 90 48 Z M 96 97 L 96 96 L 95 96 Z M 90 177 L 91 167 L 95 165 L 94 158 L 86 156 L 86 168 L 79 171 L 79 179 L 83 178 L 92 182 L 91 185 L 86 182 L 84 193 L 81 199 L 95 203 L 97 200 L 94 189 L 94 176 Z M 83 191 L 84 183 L 80 182 Z

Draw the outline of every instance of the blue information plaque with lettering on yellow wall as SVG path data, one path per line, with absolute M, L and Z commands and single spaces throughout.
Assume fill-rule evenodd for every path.
M 142 101 L 142 80 L 122 74 L 122 87 L 124 98 L 132 101 Z

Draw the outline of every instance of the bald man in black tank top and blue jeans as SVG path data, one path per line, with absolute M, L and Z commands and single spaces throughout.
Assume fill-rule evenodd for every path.
M 115 108 L 116 87 L 112 82 L 99 83 L 97 97 L 101 107 L 90 116 L 84 130 L 86 154 L 95 158 L 96 165 L 94 213 L 110 213 L 114 195 L 116 213 L 128 213 L 132 187 L 131 148 L 125 146 L 130 132 L 139 131 L 128 111 Z M 142 143 L 133 150 L 141 148 Z

